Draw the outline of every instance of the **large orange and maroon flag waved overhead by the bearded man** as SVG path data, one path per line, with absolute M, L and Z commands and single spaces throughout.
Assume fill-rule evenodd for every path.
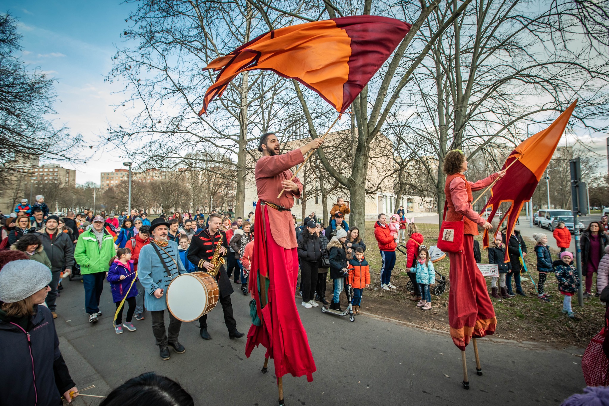
M 381 68 L 411 24 L 359 15 L 284 27 L 260 35 L 206 69 L 220 71 L 199 116 L 239 73 L 262 69 L 295 79 L 342 114 Z

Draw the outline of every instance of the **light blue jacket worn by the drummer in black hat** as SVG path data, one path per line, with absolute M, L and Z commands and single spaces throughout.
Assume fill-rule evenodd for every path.
M 142 284 L 146 293 L 144 295 L 144 305 L 151 312 L 167 310 L 167 286 L 169 286 L 172 278 L 180 273 L 186 273 L 186 268 L 178 254 L 178 244 L 175 241 L 169 241 L 167 247 L 159 247 L 158 245 L 155 247 L 155 245 L 154 242 L 144 245 L 139 251 L 138 257 L 139 283 Z M 171 273 L 171 278 L 167 275 L 155 248 L 160 251 L 161 257 Z M 158 288 L 163 289 L 163 296 L 160 299 L 157 299 L 154 295 Z

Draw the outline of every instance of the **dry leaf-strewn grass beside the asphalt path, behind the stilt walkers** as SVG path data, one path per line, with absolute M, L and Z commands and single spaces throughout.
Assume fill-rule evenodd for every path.
M 362 299 L 362 310 L 376 313 L 384 317 L 397 320 L 409 321 L 421 326 L 431 327 L 448 331 L 448 289 L 442 296 L 432 295 L 433 310 L 423 312 L 410 301 L 410 294 L 406 290 L 409 281 L 406 275 L 405 256 L 396 251 L 396 265 L 392 274 L 392 283 L 398 287 L 393 292 L 380 289 L 379 269 L 381 268 L 381 256 L 374 239 L 374 222 L 366 224 L 366 259 L 370 264 L 372 285 L 367 289 Z M 435 245 L 438 237 L 438 226 L 431 224 L 418 225 L 424 236 L 424 244 Z M 477 236 L 482 243 L 482 236 Z M 498 320 L 495 337 L 516 341 L 538 341 L 550 343 L 558 347 L 577 346 L 583 347 L 588 344 L 597 332 L 604 326 L 605 307 L 599 298 L 585 299 L 584 307 L 577 306 L 577 296 L 573 298 L 573 309 L 576 319 L 569 319 L 561 313 L 563 296 L 558 292 L 557 281 L 554 275 L 548 274 L 545 291 L 552 296 L 549 303 L 537 299 L 535 287 L 530 280 L 533 277 L 535 283 L 538 281 L 535 255 L 533 253 L 533 240 L 526 239 L 527 247 L 532 255 L 527 256 L 526 264 L 530 273 L 521 275 L 524 292 L 528 296 L 515 296 L 511 299 L 492 299 Z M 481 244 L 482 245 L 482 244 Z M 557 251 L 552 250 L 552 257 L 557 258 Z M 482 251 L 482 262 L 488 263 L 487 251 Z M 449 261 L 448 256 L 442 261 L 434 264 L 435 269 L 448 278 Z M 450 282 L 450 281 L 448 281 Z M 583 281 L 582 281 L 583 282 Z M 487 278 L 490 292 L 490 278 Z M 329 284 L 328 289 L 331 289 Z M 594 291 L 594 289 L 593 289 Z

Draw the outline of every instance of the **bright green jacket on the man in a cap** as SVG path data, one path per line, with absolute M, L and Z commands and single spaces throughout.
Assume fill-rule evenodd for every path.
M 116 255 L 114 237 L 105 229 L 102 248 L 99 248 L 97 237 L 90 229 L 80 234 L 74 248 L 74 260 L 80 265 L 81 275 L 107 272 L 110 268 L 110 259 L 114 255 Z

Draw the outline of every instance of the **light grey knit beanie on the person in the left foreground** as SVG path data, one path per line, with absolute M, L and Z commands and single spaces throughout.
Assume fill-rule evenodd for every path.
M 31 259 L 19 259 L 0 270 L 0 301 L 15 303 L 51 282 L 51 271 L 46 265 Z

